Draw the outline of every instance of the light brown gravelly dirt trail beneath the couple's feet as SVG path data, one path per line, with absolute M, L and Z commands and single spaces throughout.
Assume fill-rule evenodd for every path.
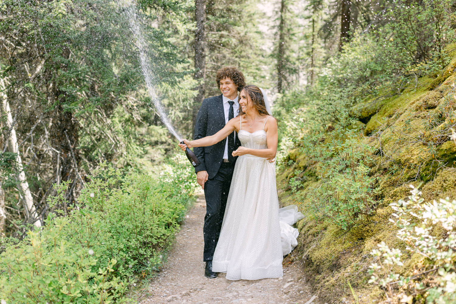
M 168 256 L 168 262 L 149 286 L 141 304 L 311 304 L 316 296 L 309 293 L 300 262 L 284 267 L 280 279 L 230 281 L 225 273 L 218 278 L 204 277 L 202 262 L 202 224 L 206 211 L 204 195 L 200 195 L 188 211 L 181 231 Z

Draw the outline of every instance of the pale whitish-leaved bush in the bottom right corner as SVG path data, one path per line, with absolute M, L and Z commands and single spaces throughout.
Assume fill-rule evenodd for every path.
M 410 294 L 404 294 L 406 301 L 401 302 L 412 303 L 413 294 L 424 296 L 426 303 L 455 303 L 456 201 L 446 198 L 428 203 L 420 198 L 418 189 L 410 187 L 407 201 L 390 204 L 395 211 L 390 222 L 400 228 L 397 237 L 405 243 L 405 251 L 390 249 L 384 242 L 378 244 L 371 252 L 377 262 L 370 265 L 369 283 L 381 285 L 390 295 L 394 284 L 398 284 Z M 404 276 L 397 269 L 404 265 L 401 256 L 408 254 L 423 257 L 423 262 L 415 264 L 419 274 Z

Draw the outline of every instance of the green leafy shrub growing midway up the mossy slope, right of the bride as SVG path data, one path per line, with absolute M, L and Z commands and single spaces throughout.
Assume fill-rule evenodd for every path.
M 343 141 L 333 139 L 327 152 L 330 157 L 319 160 L 321 168 L 317 171 L 322 183 L 310 190 L 312 207 L 346 230 L 377 205 L 377 180 L 369 176 L 372 148 L 351 131 Z

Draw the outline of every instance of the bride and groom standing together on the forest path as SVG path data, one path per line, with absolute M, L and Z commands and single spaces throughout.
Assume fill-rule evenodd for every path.
M 195 170 L 207 208 L 205 276 L 216 278 L 223 272 L 230 280 L 279 278 L 283 252 L 274 164 L 277 122 L 266 109 L 262 91 L 245 86 L 237 68 L 221 68 L 216 82 L 222 95 L 204 99 L 195 140 L 179 144 L 183 150 L 194 147 L 201 162 Z

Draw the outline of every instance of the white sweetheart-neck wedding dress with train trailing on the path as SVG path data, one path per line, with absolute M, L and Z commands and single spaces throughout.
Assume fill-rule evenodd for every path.
M 246 148 L 267 148 L 264 126 L 253 133 L 240 128 L 238 137 Z M 284 226 L 281 236 L 281 226 L 275 163 L 253 155 L 239 156 L 212 271 L 227 273 L 229 280 L 282 277 L 283 254 L 296 246 L 290 243 L 296 241 L 297 229 Z

